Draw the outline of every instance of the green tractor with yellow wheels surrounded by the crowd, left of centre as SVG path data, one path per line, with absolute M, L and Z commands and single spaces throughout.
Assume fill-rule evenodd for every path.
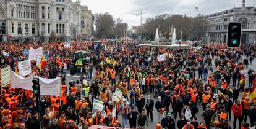
M 76 51 L 70 66 L 70 74 L 85 73 L 85 66 L 90 62 L 90 57 L 87 51 Z

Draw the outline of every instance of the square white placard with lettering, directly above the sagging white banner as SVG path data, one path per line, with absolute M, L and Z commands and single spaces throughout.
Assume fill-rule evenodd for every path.
M 31 73 L 31 63 L 29 60 L 19 62 L 18 68 L 19 68 L 19 75 L 22 77 Z

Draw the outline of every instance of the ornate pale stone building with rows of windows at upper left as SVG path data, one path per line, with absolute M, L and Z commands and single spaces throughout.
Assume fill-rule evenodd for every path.
M 23 41 L 77 39 L 81 31 L 80 7 L 79 0 L 0 1 L 0 37 Z

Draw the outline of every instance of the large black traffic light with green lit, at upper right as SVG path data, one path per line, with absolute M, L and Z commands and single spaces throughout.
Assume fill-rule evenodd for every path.
M 228 23 L 228 47 L 240 47 L 242 36 L 242 23 L 241 22 L 229 22 Z

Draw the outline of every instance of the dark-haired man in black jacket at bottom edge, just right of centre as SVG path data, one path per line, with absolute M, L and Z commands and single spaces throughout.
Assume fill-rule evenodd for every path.
M 142 113 L 137 116 L 136 123 L 138 123 L 137 128 L 148 129 L 148 116 L 145 109 L 143 109 Z

